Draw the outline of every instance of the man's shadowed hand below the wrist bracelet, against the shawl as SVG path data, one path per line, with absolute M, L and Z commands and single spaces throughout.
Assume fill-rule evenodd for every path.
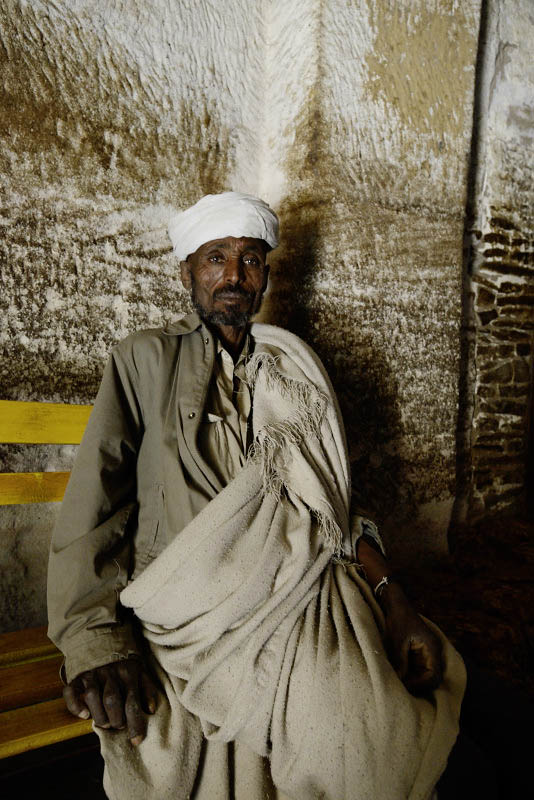
M 441 642 L 406 599 L 402 588 L 391 583 L 381 593 L 386 617 L 386 645 L 391 663 L 409 692 L 424 694 L 443 680 Z

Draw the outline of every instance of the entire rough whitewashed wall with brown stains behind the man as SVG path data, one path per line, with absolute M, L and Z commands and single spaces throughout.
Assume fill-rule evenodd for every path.
M 323 358 L 355 492 L 393 553 L 443 553 L 474 139 L 488 166 L 473 230 L 489 247 L 501 218 L 531 243 L 533 14 L 529 0 L 4 0 L 0 397 L 92 401 L 115 342 L 189 308 L 170 209 L 259 194 L 283 231 L 263 318 Z M 475 83 L 487 102 L 474 127 Z M 479 305 L 484 281 L 516 281 L 495 277 L 497 258 L 477 264 Z M 464 427 L 476 392 L 473 379 Z M 4 471 L 58 469 L 73 448 L 2 455 Z M 469 510 L 483 488 L 464 471 Z M 55 513 L 0 515 L 4 629 L 45 619 Z

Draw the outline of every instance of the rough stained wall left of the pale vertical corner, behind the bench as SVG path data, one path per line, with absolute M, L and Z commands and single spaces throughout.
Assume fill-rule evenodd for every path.
M 258 149 L 261 12 L 206 0 L 2 3 L 1 397 L 90 402 L 115 342 L 187 310 L 169 208 L 230 188 L 243 150 Z M 72 458 L 3 455 L 6 471 Z M 5 627 L 46 617 L 55 512 L 0 515 Z

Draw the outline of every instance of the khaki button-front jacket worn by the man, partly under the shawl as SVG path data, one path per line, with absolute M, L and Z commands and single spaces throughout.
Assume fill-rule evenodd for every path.
M 197 314 L 112 351 L 50 551 L 67 681 L 140 652 L 119 593 L 223 488 L 196 444 L 215 353 Z

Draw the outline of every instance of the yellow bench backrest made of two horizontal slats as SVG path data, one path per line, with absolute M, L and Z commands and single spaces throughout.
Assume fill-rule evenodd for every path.
M 0 400 L 0 442 L 79 444 L 92 406 Z M 61 500 L 69 472 L 2 472 L 0 505 Z

